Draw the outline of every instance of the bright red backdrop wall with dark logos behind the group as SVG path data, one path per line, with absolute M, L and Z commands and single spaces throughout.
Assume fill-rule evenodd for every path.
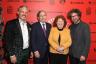
M 90 25 L 91 47 L 88 56 L 88 64 L 96 64 L 96 0 L 0 0 L 3 8 L 4 24 L 16 18 L 16 11 L 20 5 L 27 5 L 30 9 L 28 21 L 36 22 L 38 10 L 47 11 L 47 21 L 52 23 L 56 15 L 67 16 L 72 8 L 78 8 L 82 12 L 82 20 Z M 66 18 L 67 19 L 67 18 Z M 67 19 L 68 24 L 70 21 Z

